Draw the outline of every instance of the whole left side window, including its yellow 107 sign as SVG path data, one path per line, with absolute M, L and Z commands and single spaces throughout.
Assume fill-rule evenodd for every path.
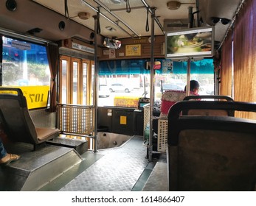
M 46 47 L 2 36 L 1 86 L 21 88 L 29 109 L 47 107 L 50 71 Z

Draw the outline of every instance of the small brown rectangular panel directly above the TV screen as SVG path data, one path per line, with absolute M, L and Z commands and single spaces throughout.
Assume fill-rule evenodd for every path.
M 164 31 L 172 31 L 185 29 L 188 27 L 188 19 L 165 19 L 164 20 Z

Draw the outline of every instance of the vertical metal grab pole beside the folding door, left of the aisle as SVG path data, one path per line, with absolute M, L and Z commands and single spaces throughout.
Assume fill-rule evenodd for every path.
M 97 60 L 97 26 L 100 15 L 94 15 L 94 93 L 93 93 L 93 104 L 94 104 L 94 152 L 97 152 L 97 127 L 98 127 L 98 115 L 97 115 L 97 83 L 98 83 L 98 60 Z

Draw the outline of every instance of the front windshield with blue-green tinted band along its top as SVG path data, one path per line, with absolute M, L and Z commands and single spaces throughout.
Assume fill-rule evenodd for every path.
M 100 62 L 98 105 L 134 107 L 134 102 L 140 97 L 150 97 L 149 65 L 149 59 Z M 184 90 L 187 83 L 187 62 L 156 59 L 154 68 L 155 101 L 161 100 L 162 90 Z M 190 71 L 190 79 L 195 79 L 200 84 L 199 94 L 214 93 L 212 59 L 191 62 Z

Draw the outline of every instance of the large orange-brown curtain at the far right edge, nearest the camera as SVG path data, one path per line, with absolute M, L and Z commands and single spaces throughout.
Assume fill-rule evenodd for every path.
M 256 0 L 247 0 L 237 15 L 234 29 L 234 98 L 256 102 Z M 255 114 L 239 113 L 242 118 Z

